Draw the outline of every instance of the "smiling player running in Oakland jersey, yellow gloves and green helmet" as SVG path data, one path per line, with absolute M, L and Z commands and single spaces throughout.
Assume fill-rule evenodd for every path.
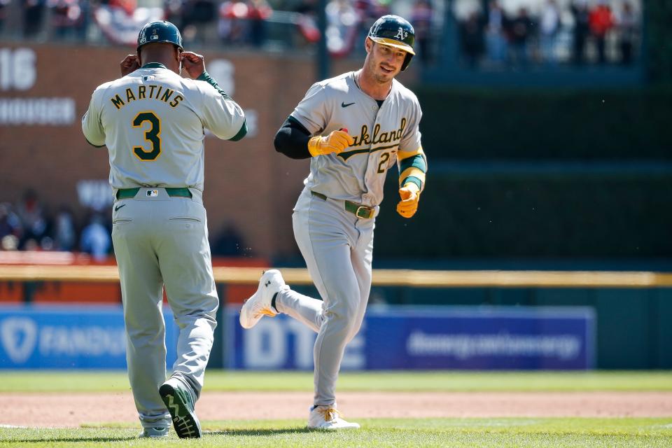
M 265 272 L 243 305 L 240 323 L 286 313 L 317 332 L 309 428 L 358 428 L 337 411 L 335 386 L 346 344 L 357 334 L 371 286 L 373 229 L 388 169 L 397 162 L 397 211 L 416 212 L 426 173 L 421 110 L 395 76 L 414 55 L 414 30 L 385 15 L 365 40 L 362 69 L 323 80 L 283 123 L 277 151 L 310 158 L 310 174 L 294 208 L 297 244 L 322 300 L 291 290 L 277 270 Z

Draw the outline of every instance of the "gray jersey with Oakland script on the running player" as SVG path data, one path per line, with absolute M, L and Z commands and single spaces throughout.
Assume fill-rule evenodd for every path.
M 311 158 L 305 185 L 333 199 L 379 205 L 387 169 L 398 152 L 421 148 L 420 104 L 398 80 L 378 106 L 359 89 L 355 72 L 344 73 L 312 85 L 291 115 L 313 135 L 346 128 L 354 138 L 353 146 L 338 155 Z

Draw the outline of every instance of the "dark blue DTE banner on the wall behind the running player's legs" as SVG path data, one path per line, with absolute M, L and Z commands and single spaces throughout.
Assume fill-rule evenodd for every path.
M 226 310 L 225 360 L 236 369 L 313 366 L 315 333 L 288 316 L 243 330 Z M 344 369 L 577 370 L 594 366 L 595 316 L 584 307 L 370 307 Z

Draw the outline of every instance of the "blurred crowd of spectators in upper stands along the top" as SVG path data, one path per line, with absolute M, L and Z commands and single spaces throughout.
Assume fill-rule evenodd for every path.
M 641 0 L 327 0 L 327 46 L 362 55 L 370 25 L 408 18 L 420 62 L 433 62 L 452 10 L 470 68 L 623 64 L 636 59 Z M 320 37 L 318 0 L 0 0 L 0 37 L 133 46 L 150 20 L 170 20 L 186 45 L 301 49 Z M 450 15 L 450 14 L 449 14 Z M 450 33 L 452 34 L 452 33 Z M 442 45 L 437 45 L 441 42 Z

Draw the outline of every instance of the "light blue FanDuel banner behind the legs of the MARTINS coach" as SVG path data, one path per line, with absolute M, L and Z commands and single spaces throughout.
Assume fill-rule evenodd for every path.
M 177 325 L 165 309 L 167 365 L 177 358 Z M 122 307 L 0 307 L 0 368 L 125 369 Z

